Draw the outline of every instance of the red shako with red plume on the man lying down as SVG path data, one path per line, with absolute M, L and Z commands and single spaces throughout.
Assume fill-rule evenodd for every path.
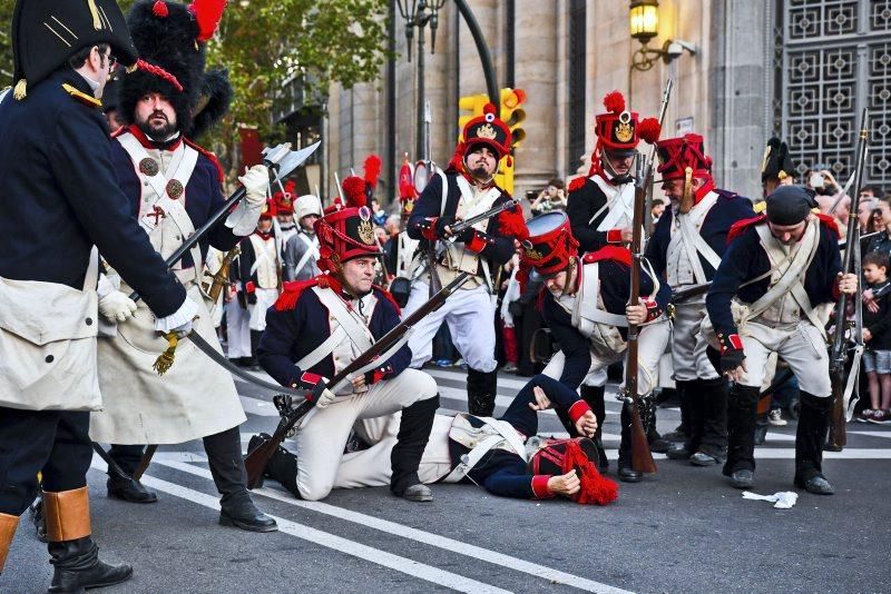
M 597 471 L 599 456 L 597 445 L 587 437 L 548 439 L 529 459 L 529 472 L 536 475 L 562 475 L 575 469 L 581 488 L 570 498 L 581 504 L 606 505 L 618 498 L 619 488 Z

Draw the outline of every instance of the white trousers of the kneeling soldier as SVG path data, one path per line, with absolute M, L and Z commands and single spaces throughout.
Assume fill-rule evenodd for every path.
M 310 410 L 294 436 L 301 498 L 326 497 L 339 476 L 345 475 L 341 481 L 349 485 L 351 473 L 380 475 L 390 472 L 390 456 L 389 453 L 382 455 L 383 447 L 343 454 L 350 430 L 358 420 L 389 417 L 415 402 L 432 398 L 438 392 L 432 377 L 418 369 L 405 369 L 393 379 L 378 382 L 368 392 L 339 397 L 325 408 Z M 341 469 L 343 464 L 346 468 Z M 382 469 L 384 465 L 385 471 Z

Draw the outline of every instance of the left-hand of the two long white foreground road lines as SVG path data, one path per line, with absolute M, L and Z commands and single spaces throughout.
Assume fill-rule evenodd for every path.
M 165 462 L 163 464 L 178 465 L 183 463 Z M 188 466 L 187 464 L 183 465 Z M 105 463 L 98 457 L 94 459 L 92 467 L 98 471 L 102 472 L 106 471 Z M 209 478 L 210 473 L 207 471 L 205 472 L 207 473 L 207 477 Z M 212 495 L 207 495 L 206 493 L 200 493 L 198 491 L 194 491 L 177 485 L 175 483 L 169 483 L 167 481 L 148 475 L 143 475 L 141 482 L 144 485 L 148 487 L 160 491 L 161 493 L 167 493 L 168 495 L 173 495 L 174 497 L 179 497 L 180 499 L 186 499 L 192 503 L 209 507 L 210 509 L 219 509 L 219 501 L 217 501 L 217 498 Z M 419 563 L 417 561 L 407 557 L 400 557 L 399 555 L 393 555 L 392 553 L 379 551 L 371 546 L 366 546 L 356 543 L 354 541 L 350 541 L 349 538 L 343 538 L 341 536 L 335 536 L 326 532 L 311 528 L 310 526 L 304 526 L 303 524 L 297 524 L 296 522 L 292 522 L 291 519 L 286 519 L 278 516 L 271 516 L 271 517 L 274 517 L 275 522 L 278 523 L 280 532 L 290 534 L 291 536 L 296 536 L 297 538 L 324 546 L 326 548 L 332 548 L 340 553 L 345 553 L 347 555 L 374 563 L 376 565 L 381 565 L 383 567 L 388 567 L 390 570 L 395 570 L 398 572 L 418 577 L 425 582 L 432 582 L 433 584 L 450 587 L 458 592 L 468 592 L 474 594 L 478 592 L 491 593 L 491 594 L 511 594 L 509 590 L 502 590 L 500 587 L 496 587 L 493 585 L 486 584 L 483 582 L 478 582 L 476 580 L 471 580 L 469 577 L 464 577 L 456 573 L 433 567 L 432 565 L 425 565 L 423 563 Z

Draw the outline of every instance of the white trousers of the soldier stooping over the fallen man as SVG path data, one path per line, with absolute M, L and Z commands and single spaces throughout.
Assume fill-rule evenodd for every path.
M 665 352 L 669 336 L 670 326 L 667 319 L 640 328 L 637 337 L 637 393 L 642 396 L 646 396 L 659 385 L 659 359 Z M 591 350 L 590 356 L 591 366 L 581 384 L 603 386 L 607 380 L 606 368 L 620 360 L 625 356 L 625 352 L 604 356 Z M 561 350 L 554 355 L 542 374 L 554 379 L 560 379 L 565 365 L 566 356 Z

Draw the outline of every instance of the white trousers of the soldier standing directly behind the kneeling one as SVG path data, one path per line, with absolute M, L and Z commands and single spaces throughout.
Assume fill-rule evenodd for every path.
M 409 303 L 402 310 L 407 318 L 429 299 L 430 288 L 415 281 L 411 287 Z M 446 299 L 438 310 L 422 319 L 409 339 L 411 366 L 420 368 L 433 356 L 433 336 L 442 326 L 449 325 L 452 343 L 468 367 L 482 373 L 493 372 L 495 359 L 495 305 L 484 286 L 474 289 L 458 289 Z

